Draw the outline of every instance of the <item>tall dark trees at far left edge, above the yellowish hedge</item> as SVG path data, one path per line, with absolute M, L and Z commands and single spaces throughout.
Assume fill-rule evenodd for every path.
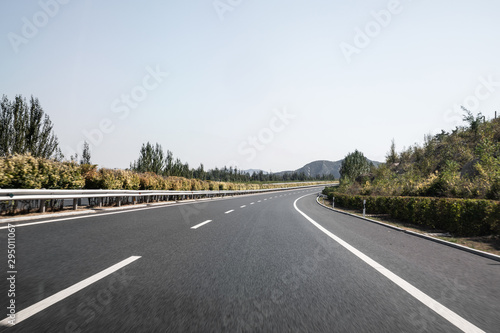
M 3 95 L 0 102 L 0 156 L 31 154 L 34 157 L 61 159 L 54 125 L 38 98 L 29 103 L 21 95 L 9 101 Z

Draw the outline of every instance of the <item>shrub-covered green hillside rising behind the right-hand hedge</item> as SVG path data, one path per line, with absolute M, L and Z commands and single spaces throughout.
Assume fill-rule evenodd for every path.
M 465 110 L 465 109 L 464 109 Z M 500 200 L 500 119 L 467 112 L 466 126 L 425 137 L 399 153 L 368 179 L 341 184 L 346 194 Z

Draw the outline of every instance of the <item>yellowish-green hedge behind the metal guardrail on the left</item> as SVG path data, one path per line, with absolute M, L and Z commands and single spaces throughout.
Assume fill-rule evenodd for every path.
M 314 183 L 301 183 L 314 185 Z M 258 190 L 296 184 L 242 184 L 213 182 L 155 173 L 97 168 L 97 165 L 57 162 L 31 155 L 0 157 L 0 188 L 3 189 L 103 189 L 103 190 Z

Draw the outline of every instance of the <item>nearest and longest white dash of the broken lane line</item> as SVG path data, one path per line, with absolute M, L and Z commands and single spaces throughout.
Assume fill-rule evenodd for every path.
M 77 284 L 74 284 L 69 288 L 61 290 L 60 292 L 58 292 L 50 297 L 47 297 L 46 299 L 41 300 L 40 302 L 35 303 L 35 304 L 27 307 L 24 310 L 19 311 L 18 313 L 16 313 L 15 324 L 10 324 L 9 317 L 7 317 L 0 322 L 0 326 L 17 325 L 20 322 L 22 322 L 23 320 L 26 320 L 29 317 L 37 314 L 38 312 L 45 310 L 49 306 L 54 305 L 55 303 L 57 303 L 59 301 L 62 301 L 63 299 L 65 299 L 65 298 L 73 295 L 74 293 L 90 286 L 92 283 L 97 282 L 97 281 L 101 280 L 102 278 L 116 272 L 120 268 L 127 266 L 128 264 L 136 261 L 139 258 L 141 258 L 141 257 L 140 256 L 132 256 L 132 257 L 129 257 L 128 259 L 120 261 L 119 263 L 103 270 L 102 272 L 99 272 L 95 275 L 92 275 L 91 277 L 86 278 L 85 280 L 78 282 Z

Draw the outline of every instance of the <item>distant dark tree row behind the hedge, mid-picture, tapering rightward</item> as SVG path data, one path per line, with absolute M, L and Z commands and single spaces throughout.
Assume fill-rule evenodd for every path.
M 130 164 L 130 169 L 136 172 L 153 172 L 161 176 L 177 176 L 185 178 L 196 178 L 200 180 L 224 181 L 224 182 L 275 182 L 275 181 L 310 181 L 310 180 L 333 180 L 333 176 L 308 177 L 304 172 L 296 173 L 264 173 L 263 171 L 250 174 L 233 168 L 224 166 L 205 170 L 203 164 L 196 169 L 190 168 L 188 163 L 182 163 L 179 158 L 174 161 L 173 153 L 166 152 L 158 143 L 143 144 L 139 152 L 139 158 Z

